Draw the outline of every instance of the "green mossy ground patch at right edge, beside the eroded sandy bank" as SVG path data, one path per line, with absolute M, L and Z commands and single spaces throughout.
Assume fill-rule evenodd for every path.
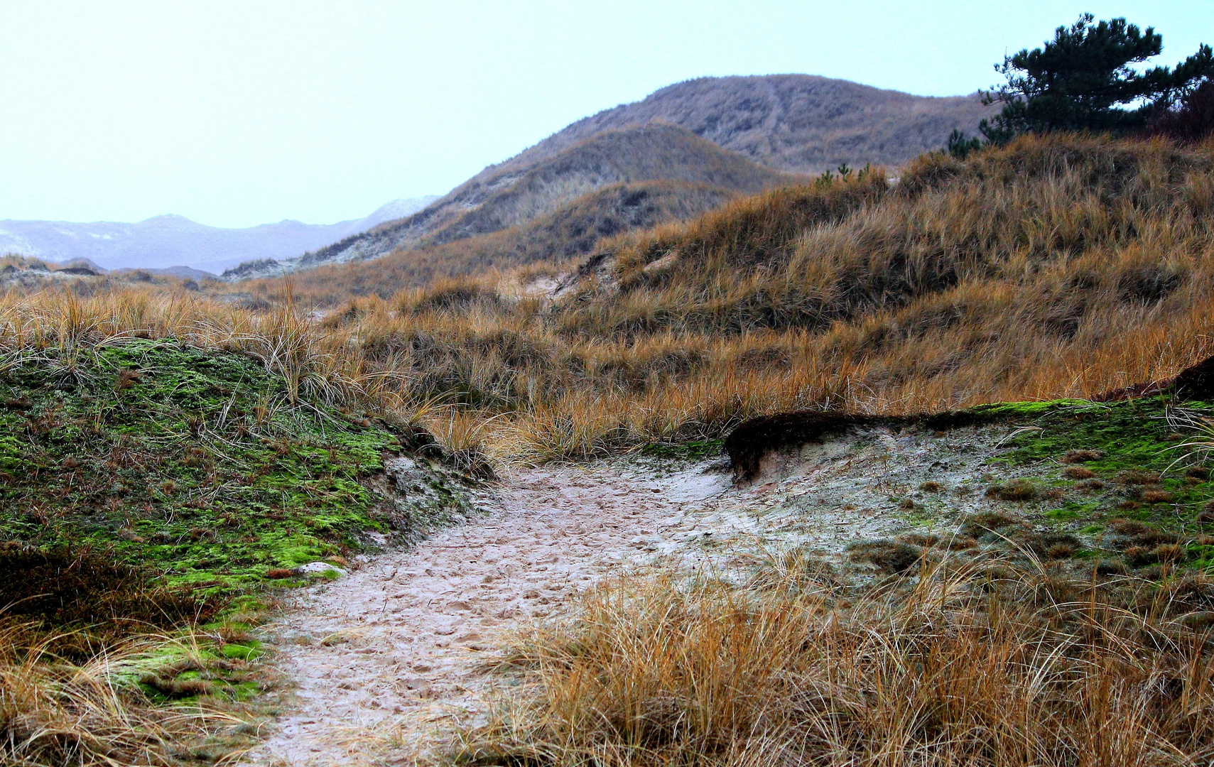
M 1214 567 L 1206 465 L 1214 407 L 1151 397 L 1005 403 L 977 413 L 1012 427 L 1011 449 L 991 461 L 1000 478 L 988 498 L 1078 536 L 1054 544 L 1060 556 L 1138 569 Z

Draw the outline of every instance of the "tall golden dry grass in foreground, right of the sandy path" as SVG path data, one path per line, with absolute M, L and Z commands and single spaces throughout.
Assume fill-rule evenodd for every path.
M 464 756 L 1116 767 L 1214 752 L 1214 584 L 920 568 L 857 587 L 784 557 L 748 587 L 601 587 L 520 646 L 505 666 L 520 686 Z

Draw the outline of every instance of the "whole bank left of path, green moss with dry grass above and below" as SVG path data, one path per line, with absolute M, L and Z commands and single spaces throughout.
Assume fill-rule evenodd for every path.
M 375 482 L 387 455 L 442 458 L 382 375 L 290 306 L 191 295 L 97 278 L 0 299 L 6 765 L 238 755 L 277 700 L 254 629 L 299 566 L 465 505 L 441 460 L 408 501 Z

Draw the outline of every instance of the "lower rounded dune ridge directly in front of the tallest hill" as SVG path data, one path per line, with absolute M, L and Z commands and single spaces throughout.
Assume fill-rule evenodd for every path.
M 759 192 L 799 178 L 721 149 L 677 125 L 601 131 L 526 169 L 481 174 L 425 210 L 283 263 L 245 263 L 225 279 L 268 277 L 329 263 L 378 258 L 527 225 L 579 197 L 618 183 L 675 181 Z

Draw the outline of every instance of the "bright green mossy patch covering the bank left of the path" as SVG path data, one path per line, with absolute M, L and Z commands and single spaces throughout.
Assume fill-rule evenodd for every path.
M 365 479 L 412 447 L 293 404 L 254 359 L 137 339 L 72 358 L 11 353 L 0 434 L 0 541 L 100 546 L 172 585 L 227 592 L 388 532 L 388 499 Z

